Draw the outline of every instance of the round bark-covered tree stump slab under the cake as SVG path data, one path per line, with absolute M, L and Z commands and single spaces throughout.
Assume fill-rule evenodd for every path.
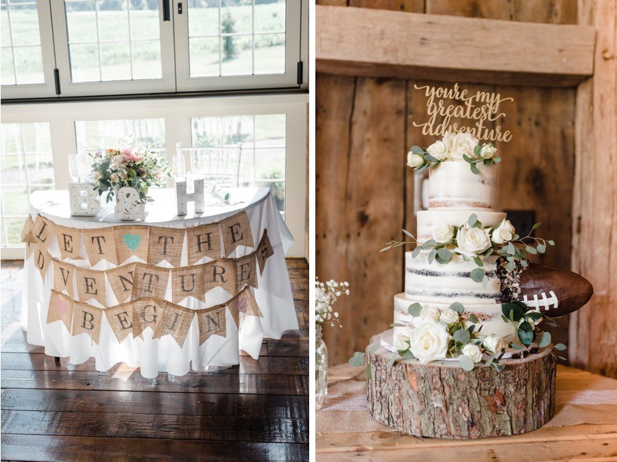
M 370 345 L 380 337 L 392 343 L 392 330 Z M 367 348 L 367 406 L 375 420 L 401 432 L 454 439 L 518 435 L 540 428 L 555 413 L 552 345 L 527 358 L 502 360 L 501 372 L 490 366 L 465 372 L 457 361 L 407 360 L 389 367 L 392 354 Z

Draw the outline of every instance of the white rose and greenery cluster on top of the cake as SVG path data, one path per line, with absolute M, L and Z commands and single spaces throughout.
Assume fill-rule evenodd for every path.
M 464 160 L 470 165 L 471 171 L 478 174 L 480 171 L 477 164 L 493 165 L 501 162 L 496 152 L 497 149 L 492 143 L 480 145 L 470 133 L 446 132 L 443 139 L 435 141 L 426 149 L 412 146 L 407 154 L 407 165 L 413 169 L 413 173 L 420 173 L 439 165 L 440 162 Z

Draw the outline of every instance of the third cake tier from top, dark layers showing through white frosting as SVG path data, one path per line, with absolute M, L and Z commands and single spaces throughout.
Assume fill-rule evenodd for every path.
M 487 287 L 470 277 L 478 265 L 474 260 L 463 261 L 452 256 L 450 263 L 442 265 L 433 260 L 428 263 L 428 253 L 422 252 L 413 258 L 405 252 L 405 293 L 414 300 L 439 302 L 452 300 L 461 303 L 494 303 L 499 301 L 501 284 L 496 276 L 496 256 L 489 256 L 484 262 L 488 277 Z M 450 303 L 452 303 L 450 302 Z

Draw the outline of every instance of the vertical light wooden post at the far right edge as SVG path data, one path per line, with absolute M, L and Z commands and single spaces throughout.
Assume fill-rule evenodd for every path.
M 594 296 L 570 315 L 570 361 L 617 378 L 617 3 L 579 0 L 598 30 L 594 77 L 577 89 L 572 269 Z

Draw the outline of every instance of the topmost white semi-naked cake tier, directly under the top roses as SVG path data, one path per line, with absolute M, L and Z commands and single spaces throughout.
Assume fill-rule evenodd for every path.
M 476 164 L 474 174 L 464 160 L 441 162 L 428 174 L 429 210 L 493 210 L 497 165 Z

